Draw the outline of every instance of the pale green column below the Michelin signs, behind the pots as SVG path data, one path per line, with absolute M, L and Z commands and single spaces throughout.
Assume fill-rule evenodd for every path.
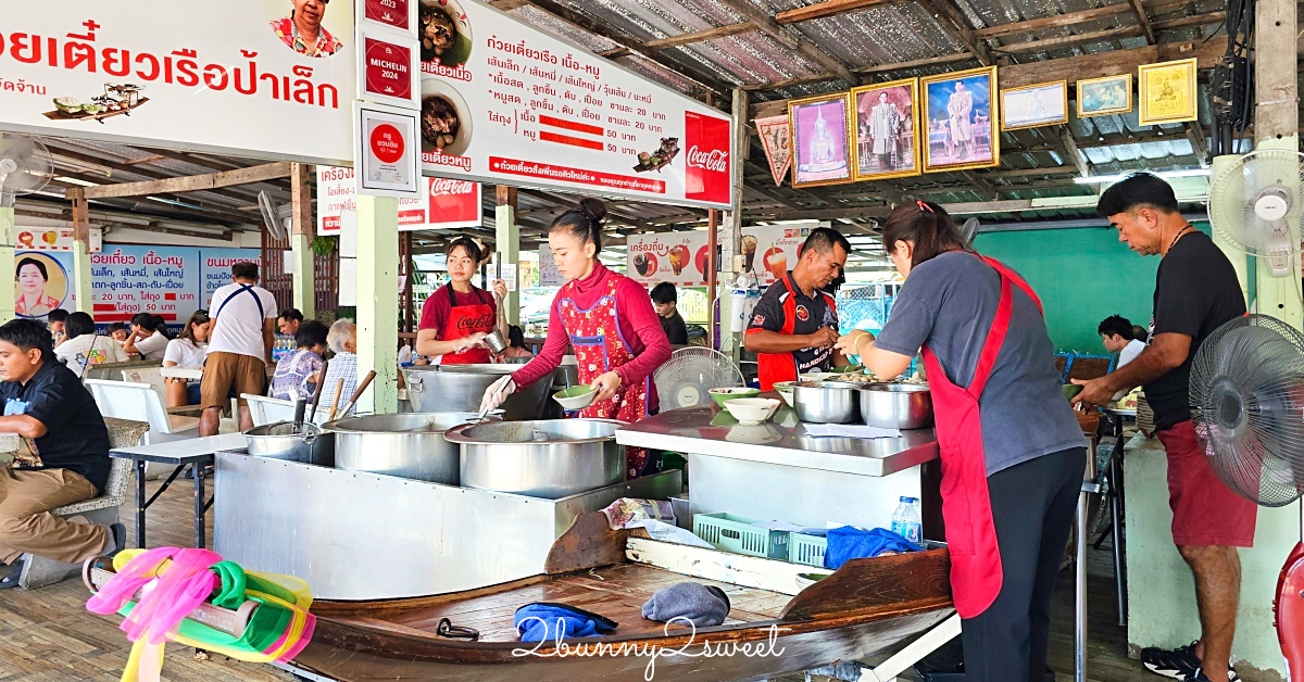
M 399 408 L 399 200 L 357 196 L 357 379 L 376 370 L 359 412 Z

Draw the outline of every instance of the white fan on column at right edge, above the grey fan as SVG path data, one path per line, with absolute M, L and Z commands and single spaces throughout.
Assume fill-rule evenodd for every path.
M 1209 184 L 1209 223 L 1236 249 L 1262 258 L 1273 276 L 1286 276 L 1300 253 L 1301 179 L 1304 154 L 1245 154 Z

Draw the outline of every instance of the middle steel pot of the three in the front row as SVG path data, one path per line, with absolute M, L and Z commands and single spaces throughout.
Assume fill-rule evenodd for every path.
M 403 412 L 340 419 L 322 429 L 335 434 L 338 469 L 458 485 L 462 452 L 443 432 L 475 419 L 475 412 Z

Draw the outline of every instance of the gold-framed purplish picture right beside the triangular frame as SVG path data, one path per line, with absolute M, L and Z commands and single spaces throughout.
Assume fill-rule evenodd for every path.
M 793 126 L 793 186 L 854 181 L 850 93 L 788 100 Z

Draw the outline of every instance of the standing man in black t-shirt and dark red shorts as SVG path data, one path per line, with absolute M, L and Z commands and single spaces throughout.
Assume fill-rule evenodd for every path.
M 1157 436 L 1168 456 L 1172 540 L 1196 574 L 1201 639 L 1174 651 L 1146 648 L 1150 670 L 1178 679 L 1239 679 L 1231 670 L 1240 596 L 1237 546 L 1252 546 L 1257 507 L 1237 496 L 1209 466 L 1191 423 L 1191 363 L 1209 335 L 1245 314 L 1245 297 L 1227 257 L 1178 210 L 1167 183 L 1140 173 L 1115 184 L 1097 213 L 1119 240 L 1142 254 L 1159 254 L 1150 344 L 1131 364 L 1090 381 L 1076 403 L 1104 404 L 1118 391 L 1145 385 Z

